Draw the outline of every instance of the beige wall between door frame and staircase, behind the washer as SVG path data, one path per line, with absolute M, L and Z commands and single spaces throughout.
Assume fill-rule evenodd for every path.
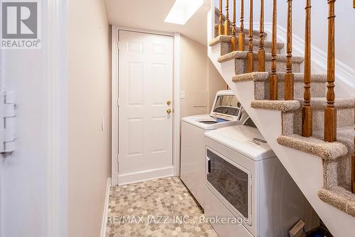
M 181 36 L 180 43 L 181 117 L 210 112 L 217 90 L 225 90 L 226 83 L 207 56 L 207 47 Z

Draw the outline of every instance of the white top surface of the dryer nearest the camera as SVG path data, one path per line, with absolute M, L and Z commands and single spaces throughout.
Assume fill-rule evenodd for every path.
M 276 157 L 256 127 L 248 125 L 223 127 L 206 132 L 204 136 L 255 161 Z

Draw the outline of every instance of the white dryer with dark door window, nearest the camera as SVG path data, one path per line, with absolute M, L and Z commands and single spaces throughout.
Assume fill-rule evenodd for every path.
M 312 206 L 250 118 L 205 137 L 204 215 L 237 220 L 211 221 L 220 237 L 286 237 L 300 218 L 308 230 L 319 225 Z

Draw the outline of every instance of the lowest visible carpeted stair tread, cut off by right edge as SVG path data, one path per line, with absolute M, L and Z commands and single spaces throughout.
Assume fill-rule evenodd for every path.
M 355 194 L 341 186 L 334 186 L 331 189 L 321 189 L 318 196 L 322 201 L 330 204 L 346 214 L 355 216 Z

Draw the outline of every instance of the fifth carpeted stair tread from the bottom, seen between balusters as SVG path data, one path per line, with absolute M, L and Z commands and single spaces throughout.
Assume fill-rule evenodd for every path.
M 245 59 L 248 55 L 248 51 L 233 51 L 231 53 L 227 53 L 224 56 L 218 58 L 219 63 L 224 63 L 233 59 Z M 254 60 L 258 60 L 258 52 L 253 52 Z M 271 53 L 265 53 L 265 60 L 271 61 Z M 287 57 L 282 54 L 278 54 L 276 56 L 276 60 L 278 62 L 286 62 Z M 303 63 L 302 57 L 293 57 L 293 63 Z

